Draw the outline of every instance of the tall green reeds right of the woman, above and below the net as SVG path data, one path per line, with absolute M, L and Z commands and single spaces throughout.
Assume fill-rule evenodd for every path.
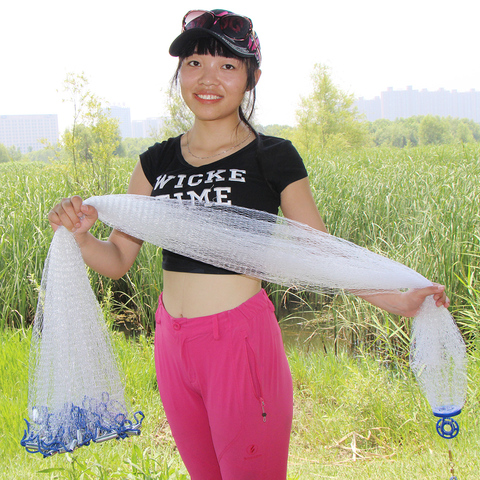
M 307 158 L 330 232 L 446 285 L 469 343 L 480 327 L 479 157 L 480 148 L 469 144 Z M 327 307 L 322 317 L 353 330 L 354 343 L 365 340 L 363 348 L 379 346 L 391 358 L 406 355 L 408 321 L 351 297 Z

